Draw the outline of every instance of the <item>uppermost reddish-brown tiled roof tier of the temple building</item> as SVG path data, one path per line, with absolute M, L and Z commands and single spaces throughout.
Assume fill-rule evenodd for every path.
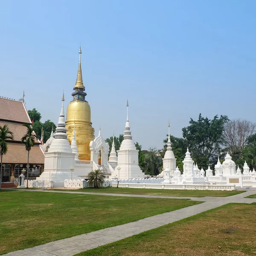
M 0 98 L 0 119 L 31 123 L 23 102 Z

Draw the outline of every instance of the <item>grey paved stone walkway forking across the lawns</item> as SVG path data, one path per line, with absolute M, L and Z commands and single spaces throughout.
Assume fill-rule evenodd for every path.
M 24 191 L 24 190 L 23 190 Z M 33 189 L 30 191 L 44 191 L 60 193 L 61 191 L 47 191 Z M 61 192 L 63 193 L 63 192 Z M 145 198 L 177 198 L 172 196 L 154 196 L 154 195 L 124 195 L 124 194 L 107 194 L 107 193 L 90 193 L 90 192 L 64 192 L 74 194 L 93 194 L 93 195 L 110 195 L 110 196 L 130 196 L 130 197 L 145 197 Z M 109 227 L 103 230 L 94 231 L 79 236 L 73 236 L 67 239 L 62 239 L 47 244 L 42 244 L 25 250 L 19 250 L 12 253 L 7 253 L 5 256 L 73 256 L 100 245 L 109 244 L 120 239 L 127 238 L 147 230 L 151 230 L 163 225 L 179 221 L 183 218 L 193 216 L 195 214 L 205 212 L 228 203 L 256 203 L 256 198 L 244 198 L 248 195 L 256 194 L 256 191 L 248 191 L 230 197 L 204 197 L 204 198 L 189 198 L 196 201 L 204 201 L 202 204 L 193 205 L 190 207 L 178 209 L 172 212 L 166 212 L 159 215 L 154 215 L 139 221 L 130 222 L 116 227 Z

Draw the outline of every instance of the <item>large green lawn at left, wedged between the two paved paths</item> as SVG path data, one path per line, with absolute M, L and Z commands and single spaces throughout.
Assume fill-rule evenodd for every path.
M 0 190 L 0 254 L 201 202 Z

